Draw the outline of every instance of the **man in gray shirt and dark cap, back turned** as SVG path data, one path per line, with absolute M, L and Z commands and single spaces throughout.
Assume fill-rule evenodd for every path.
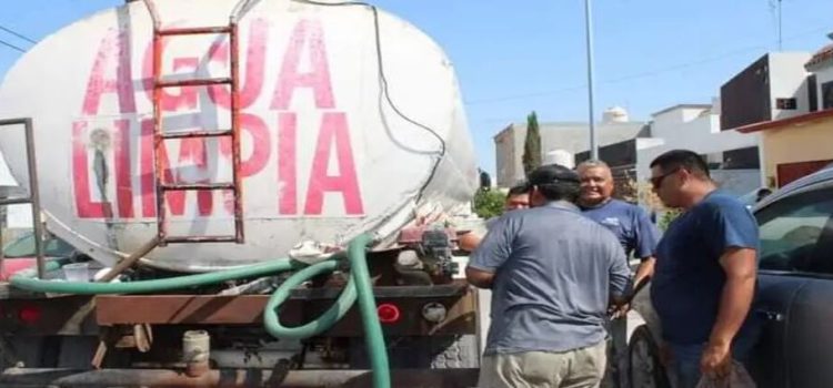
M 533 208 L 498 219 L 465 269 L 493 293 L 479 386 L 596 387 L 605 314 L 629 284 L 624 251 L 575 206 L 575 172 L 542 166 L 529 184 Z

